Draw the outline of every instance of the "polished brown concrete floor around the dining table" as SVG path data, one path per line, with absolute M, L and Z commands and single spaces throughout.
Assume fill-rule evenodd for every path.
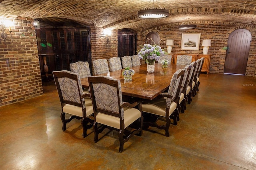
M 170 137 L 150 127 L 118 152 L 116 132 L 82 137 L 80 121 L 62 131 L 53 82 L 44 94 L 1 107 L 1 170 L 255 170 L 256 78 L 201 74 L 200 90 Z

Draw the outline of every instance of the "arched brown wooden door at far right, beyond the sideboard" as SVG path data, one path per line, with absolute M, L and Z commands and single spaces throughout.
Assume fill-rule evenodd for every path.
M 228 37 L 224 73 L 245 75 L 252 34 L 245 29 L 235 30 Z

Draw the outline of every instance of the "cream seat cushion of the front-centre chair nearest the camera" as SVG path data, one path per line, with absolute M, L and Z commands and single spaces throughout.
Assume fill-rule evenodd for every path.
M 124 128 L 128 127 L 141 116 L 140 110 L 130 107 L 124 107 Z M 104 113 L 98 113 L 95 118 L 97 123 L 107 125 L 109 127 L 120 129 L 120 118 Z

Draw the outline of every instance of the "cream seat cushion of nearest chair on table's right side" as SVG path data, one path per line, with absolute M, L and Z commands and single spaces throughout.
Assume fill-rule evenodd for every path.
M 172 102 L 170 105 L 169 116 L 176 109 L 177 104 Z M 166 110 L 166 100 L 165 99 L 157 99 L 149 101 L 148 103 L 142 104 L 142 111 L 147 113 L 152 113 L 154 115 L 159 115 L 165 117 Z

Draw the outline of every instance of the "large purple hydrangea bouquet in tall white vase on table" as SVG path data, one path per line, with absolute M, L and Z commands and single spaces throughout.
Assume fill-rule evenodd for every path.
M 164 55 L 165 51 L 161 49 L 159 45 L 151 45 L 145 43 L 138 52 L 140 59 L 144 59 L 148 64 L 147 70 L 148 73 L 153 73 L 155 69 L 155 61 L 158 61 L 160 56 Z

